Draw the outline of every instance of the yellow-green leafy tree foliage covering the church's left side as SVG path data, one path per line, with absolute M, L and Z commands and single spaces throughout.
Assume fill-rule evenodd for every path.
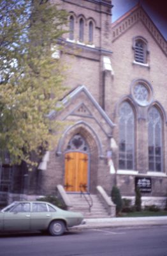
M 0 0 L 0 9 L 1 150 L 11 164 L 33 164 L 32 152 L 52 147 L 61 129 L 48 113 L 65 89 L 61 60 L 52 54 L 68 15 L 47 0 Z

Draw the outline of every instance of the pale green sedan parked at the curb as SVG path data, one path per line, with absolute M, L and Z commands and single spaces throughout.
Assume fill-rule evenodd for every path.
M 64 211 L 48 202 L 13 202 L 0 211 L 0 232 L 44 231 L 61 236 L 84 223 L 80 212 Z

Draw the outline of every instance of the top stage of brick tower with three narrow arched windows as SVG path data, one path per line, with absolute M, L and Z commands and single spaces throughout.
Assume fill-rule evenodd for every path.
M 111 51 L 111 0 L 52 0 L 69 13 L 68 42 Z M 92 35 L 91 35 L 92 34 Z

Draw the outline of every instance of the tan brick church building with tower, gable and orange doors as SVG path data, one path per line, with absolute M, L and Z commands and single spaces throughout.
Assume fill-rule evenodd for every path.
M 117 184 L 126 198 L 139 186 L 145 204 L 164 205 L 166 40 L 140 5 L 112 23 L 110 0 L 53 2 L 69 13 L 60 53 L 69 91 L 50 118 L 66 125 L 38 170 L 13 170 L 10 196 L 52 194 L 57 184 L 95 194 L 100 185 L 110 195 Z

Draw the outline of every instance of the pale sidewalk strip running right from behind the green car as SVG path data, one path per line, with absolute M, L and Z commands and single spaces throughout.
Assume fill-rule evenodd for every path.
M 110 228 L 110 227 L 133 227 L 149 225 L 167 225 L 167 216 L 159 217 L 133 217 L 133 218 L 97 218 L 85 219 L 86 223 L 75 227 L 85 228 Z

